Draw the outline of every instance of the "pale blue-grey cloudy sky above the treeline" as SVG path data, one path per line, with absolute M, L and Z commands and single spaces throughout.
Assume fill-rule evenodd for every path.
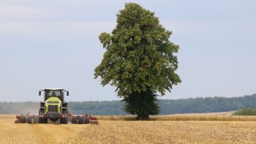
M 67 101 L 119 100 L 94 68 L 127 2 L 155 12 L 179 45 L 182 82 L 160 99 L 256 93 L 256 1 L 0 0 L 0 102 L 42 101 L 43 88 Z

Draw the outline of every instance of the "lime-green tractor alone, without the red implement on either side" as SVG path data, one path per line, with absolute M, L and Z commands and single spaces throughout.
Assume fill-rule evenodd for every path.
M 41 90 L 44 92 L 44 102 L 40 102 L 39 108 L 39 124 L 47 124 L 50 122 L 59 124 L 67 124 L 68 122 L 68 110 L 67 102 L 64 102 L 64 93 L 69 91 L 62 88 L 45 88 Z M 39 91 L 39 96 L 41 95 Z

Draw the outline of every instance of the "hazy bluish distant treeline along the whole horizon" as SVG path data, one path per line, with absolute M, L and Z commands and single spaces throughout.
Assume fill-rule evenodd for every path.
M 120 101 L 69 102 L 69 111 L 75 114 L 128 115 Z M 191 99 L 159 99 L 160 115 L 175 113 L 213 113 L 256 107 L 256 94 L 239 97 L 206 97 Z M 0 113 L 38 113 L 39 102 L 0 102 Z

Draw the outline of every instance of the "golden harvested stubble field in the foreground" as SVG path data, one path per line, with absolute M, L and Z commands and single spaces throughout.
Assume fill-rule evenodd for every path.
M 154 121 L 102 116 L 98 125 L 59 125 L 14 124 L 14 115 L 0 115 L 0 143 L 255 143 L 254 117 L 215 115 L 218 120 L 207 121 L 211 116 L 187 115 L 179 121 L 174 118 L 186 115 L 158 116 Z M 221 121 L 224 117 L 231 121 Z

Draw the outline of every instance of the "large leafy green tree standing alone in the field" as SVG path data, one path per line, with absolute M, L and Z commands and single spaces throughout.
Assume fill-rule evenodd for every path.
M 112 34 L 99 36 L 106 52 L 94 76 L 102 78 L 102 86 L 116 86 L 127 113 L 148 118 L 159 113 L 157 94 L 163 96 L 181 83 L 175 72 L 178 45 L 170 42 L 171 31 L 159 24 L 154 12 L 139 4 L 125 4 L 116 23 Z

